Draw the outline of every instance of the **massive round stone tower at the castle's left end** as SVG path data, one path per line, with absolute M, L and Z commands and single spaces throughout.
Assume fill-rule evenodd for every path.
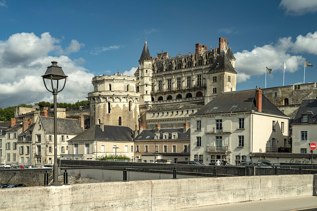
M 122 125 L 135 130 L 139 118 L 140 93 L 136 77 L 101 75 L 93 78 L 94 92 L 88 93 L 90 126 Z

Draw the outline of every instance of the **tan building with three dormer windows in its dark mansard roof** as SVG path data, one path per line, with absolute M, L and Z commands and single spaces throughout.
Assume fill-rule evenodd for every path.
M 155 125 L 155 129 L 146 130 L 145 128 L 143 123 L 139 134 L 134 139 L 136 162 L 154 162 L 152 159 L 154 152 L 159 154 L 156 159 L 167 159 L 174 163 L 189 160 L 191 130 L 188 122 L 183 124 L 183 128 L 161 129 L 160 123 Z

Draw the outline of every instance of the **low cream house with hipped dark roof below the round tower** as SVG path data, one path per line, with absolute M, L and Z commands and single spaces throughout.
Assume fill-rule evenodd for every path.
M 134 159 L 132 129 L 126 126 L 93 125 L 68 140 L 68 155 L 64 159 L 93 160 L 109 154 L 123 154 Z M 117 147 L 115 149 L 114 147 Z

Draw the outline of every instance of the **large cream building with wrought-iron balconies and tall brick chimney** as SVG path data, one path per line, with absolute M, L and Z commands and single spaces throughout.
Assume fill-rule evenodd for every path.
M 250 153 L 289 148 L 288 119 L 261 89 L 217 95 L 191 121 L 191 160 L 204 164 L 226 158 L 231 164 Z

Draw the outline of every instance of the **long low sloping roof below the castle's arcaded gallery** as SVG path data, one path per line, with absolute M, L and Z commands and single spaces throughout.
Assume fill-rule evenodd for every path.
M 191 109 L 191 108 L 200 108 L 205 105 L 204 101 L 189 101 L 182 103 L 165 103 L 165 104 L 155 104 L 152 105 L 152 108 L 147 110 L 147 112 L 155 111 L 172 111 L 172 110 L 181 110 L 181 109 Z

